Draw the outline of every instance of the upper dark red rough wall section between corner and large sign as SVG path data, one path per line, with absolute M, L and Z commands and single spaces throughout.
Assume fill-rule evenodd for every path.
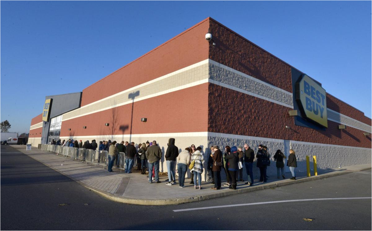
M 216 43 L 210 45 L 210 59 L 292 92 L 290 66 L 215 20 L 209 22 Z

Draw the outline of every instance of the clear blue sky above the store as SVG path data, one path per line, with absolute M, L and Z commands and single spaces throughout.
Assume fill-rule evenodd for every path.
M 1 1 L 1 121 L 79 92 L 210 16 L 371 117 L 371 1 Z

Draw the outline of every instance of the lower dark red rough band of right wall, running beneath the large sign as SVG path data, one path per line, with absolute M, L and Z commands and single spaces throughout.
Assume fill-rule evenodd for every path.
M 295 126 L 290 108 L 215 84 L 209 84 L 208 102 L 211 132 L 371 148 L 371 137 L 361 130 L 339 130 L 329 120 L 326 131 Z

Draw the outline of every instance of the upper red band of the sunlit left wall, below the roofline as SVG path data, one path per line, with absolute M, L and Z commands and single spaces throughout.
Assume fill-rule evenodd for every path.
M 81 106 L 208 59 L 208 42 L 205 40 L 208 27 L 209 20 L 205 19 L 85 88 Z

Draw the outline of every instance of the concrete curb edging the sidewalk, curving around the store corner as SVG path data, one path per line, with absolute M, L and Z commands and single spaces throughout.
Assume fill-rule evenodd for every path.
M 18 149 L 16 149 L 16 150 L 18 150 Z M 18 151 L 22 152 L 20 150 L 18 150 Z M 22 153 L 24 153 L 24 152 L 22 152 Z M 195 196 L 188 196 L 188 197 L 181 197 L 181 198 L 167 198 L 167 199 L 131 198 L 131 197 L 125 197 L 125 196 L 117 196 L 117 195 L 108 193 L 106 191 L 94 188 L 90 185 L 87 185 L 87 184 L 81 182 L 80 180 L 77 180 L 77 179 L 67 175 L 64 172 L 61 172 L 58 169 L 55 169 L 53 166 L 51 166 L 51 165 L 49 165 L 45 162 L 42 162 L 41 160 L 38 160 L 33 156 L 30 156 L 27 153 L 24 153 L 24 154 L 26 154 L 27 156 L 31 157 L 34 160 L 37 160 L 38 162 L 44 164 L 45 166 L 50 167 L 51 169 L 55 170 L 56 172 L 59 172 L 62 175 L 74 180 L 78 184 L 88 188 L 90 191 L 93 191 L 100 196 L 103 196 L 106 199 L 109 199 L 111 201 L 125 203 L 125 204 L 134 204 L 134 205 L 177 205 L 177 204 L 183 204 L 183 203 L 187 203 L 187 202 L 205 201 L 205 200 L 208 200 L 208 199 L 214 199 L 214 198 L 219 198 L 219 197 L 223 197 L 223 196 L 231 196 L 231 195 L 236 195 L 236 194 L 239 194 L 239 193 L 253 192 L 253 191 L 258 191 L 258 190 L 262 190 L 262 189 L 275 188 L 275 187 L 285 186 L 285 185 L 293 185 L 295 183 L 307 182 L 307 181 L 310 181 L 310 180 L 324 179 L 324 178 L 328 178 L 328 177 L 332 177 L 332 176 L 339 176 L 339 175 L 344 175 L 344 174 L 347 174 L 347 173 L 355 172 L 355 171 L 350 171 L 350 170 L 340 170 L 340 171 L 336 171 L 336 172 L 324 173 L 324 174 L 318 175 L 318 176 L 305 177 L 305 178 L 301 178 L 301 179 L 297 179 L 297 180 L 286 179 L 284 182 L 278 182 L 278 183 L 272 182 L 272 183 L 267 183 L 265 185 L 257 185 L 257 186 L 252 186 L 252 187 L 248 187 L 248 188 L 211 193 L 211 194 L 206 194 L 206 195 L 201 195 L 201 196 L 195 195 Z M 371 167 L 359 169 L 359 171 L 365 171 L 365 170 L 369 170 L 369 169 L 371 169 Z

